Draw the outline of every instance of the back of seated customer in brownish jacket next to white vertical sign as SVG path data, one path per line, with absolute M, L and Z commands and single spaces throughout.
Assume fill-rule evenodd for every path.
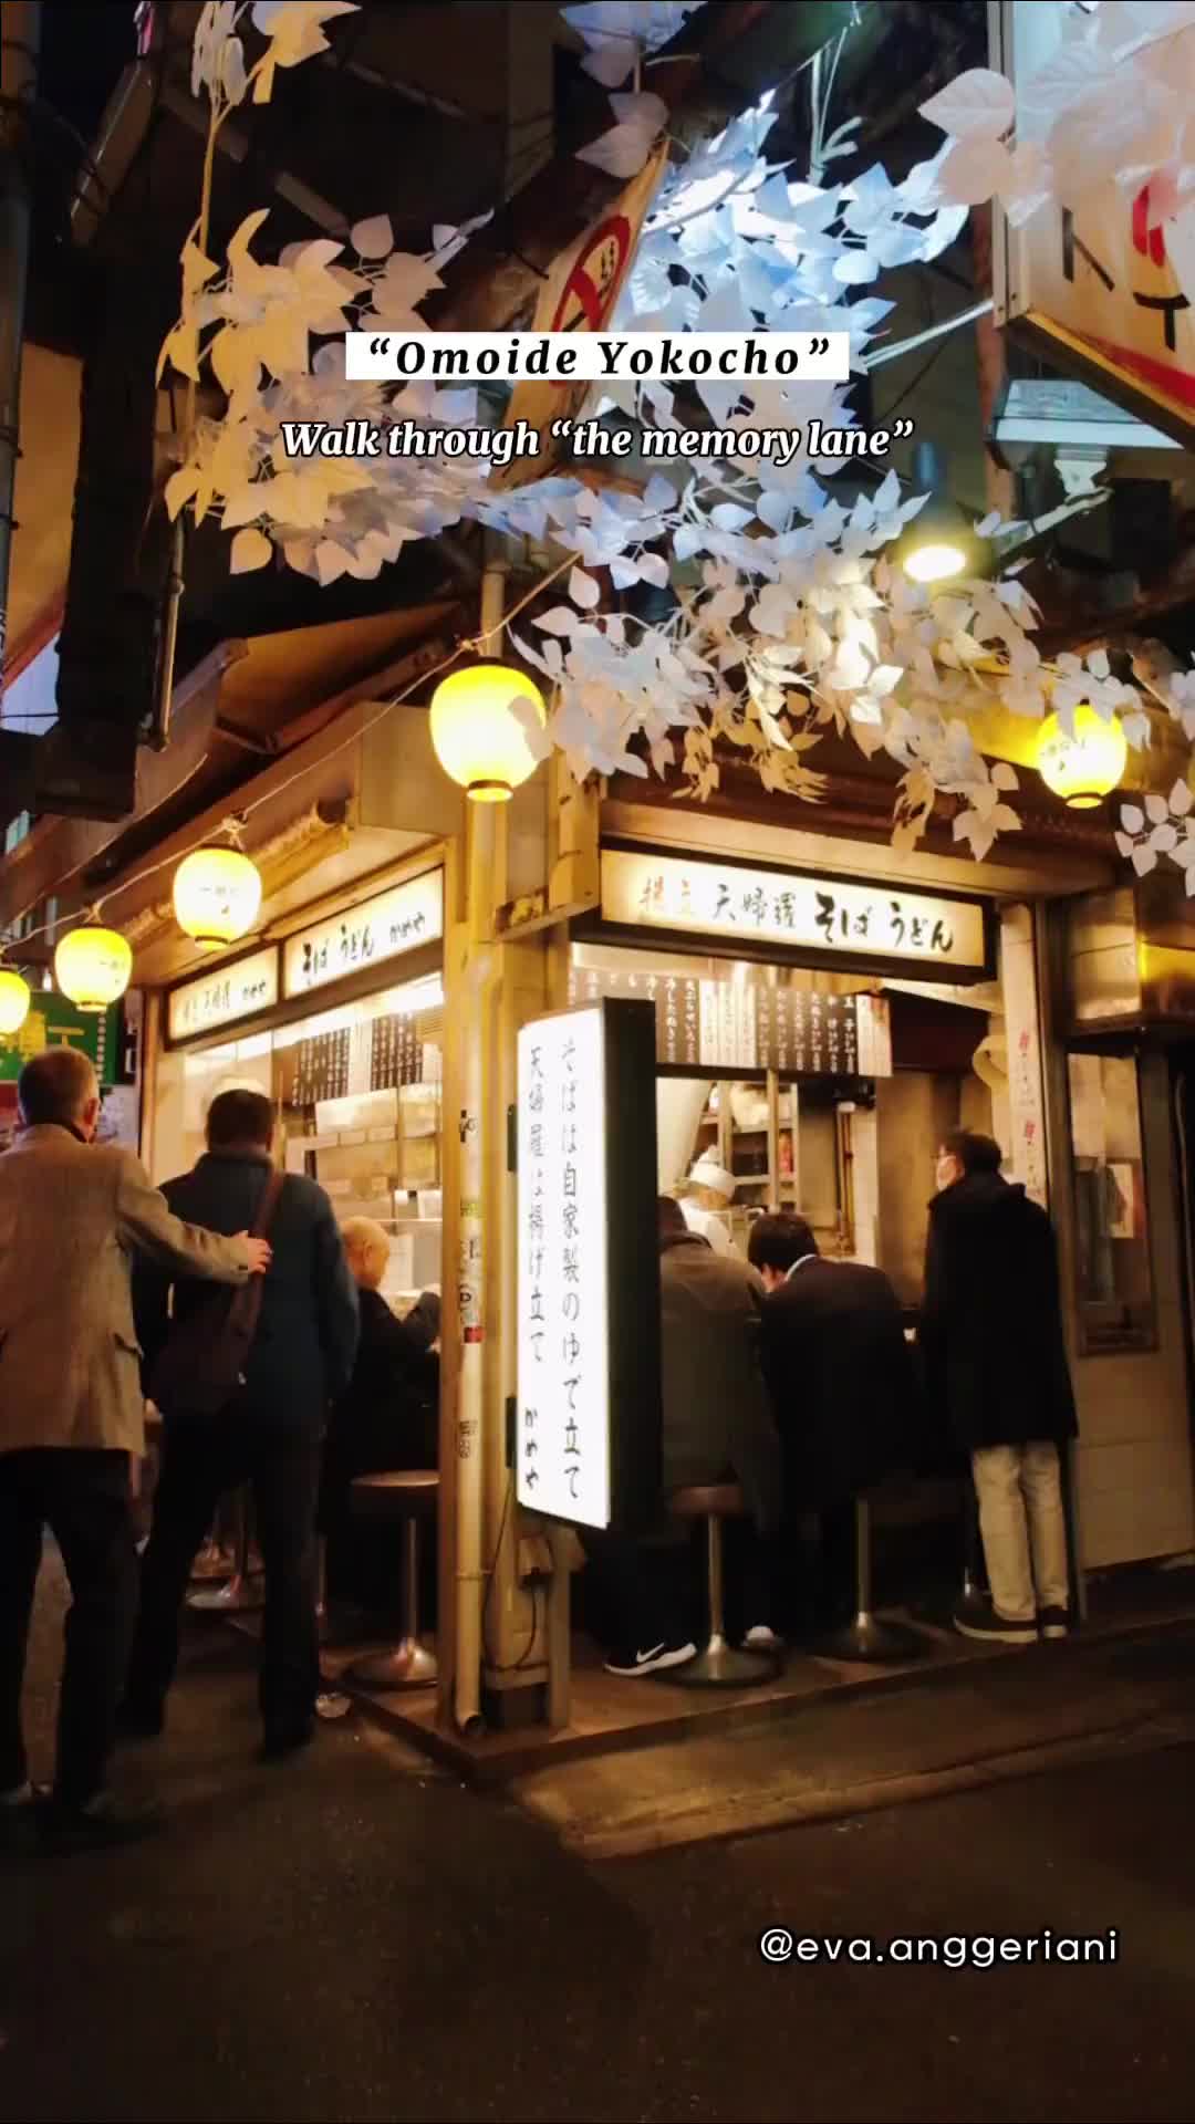
M 734 1470 L 753 1519 L 778 1514 L 778 1442 L 759 1370 L 763 1285 L 736 1255 L 680 1230 L 661 1243 L 663 1487 Z

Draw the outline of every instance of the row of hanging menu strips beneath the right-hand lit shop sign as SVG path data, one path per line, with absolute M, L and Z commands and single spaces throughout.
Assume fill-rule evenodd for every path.
M 568 1000 L 629 996 L 655 1005 L 655 1060 L 670 1066 L 789 1077 L 889 1077 L 887 1005 L 878 996 L 821 996 L 759 981 L 570 966 Z

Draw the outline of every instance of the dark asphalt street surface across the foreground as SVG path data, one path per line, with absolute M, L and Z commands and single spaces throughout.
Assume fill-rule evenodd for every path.
M 55 1625 L 47 1582 L 43 1769 Z M 1195 2111 L 1191 1746 L 1110 1744 L 987 1791 L 593 1863 L 359 1720 L 257 1765 L 249 1657 L 219 1625 L 196 1633 L 168 1737 L 125 1757 L 170 1810 L 153 1844 L 4 1871 L 2 2118 Z M 782 1929 L 872 1946 L 768 1965 L 759 1939 Z M 1110 1929 L 1114 1963 L 908 1967 L 893 1946 L 978 1935 L 982 1960 L 987 1939 Z

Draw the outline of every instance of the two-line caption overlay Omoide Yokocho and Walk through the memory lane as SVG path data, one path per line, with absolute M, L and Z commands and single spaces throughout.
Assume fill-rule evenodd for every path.
M 912 433 L 912 421 L 893 421 L 891 429 L 825 427 L 819 418 L 787 421 L 780 427 L 757 427 L 734 421 L 710 427 L 676 425 L 606 427 L 600 418 L 572 418 L 568 393 L 580 382 L 844 382 L 851 374 L 846 331 L 634 331 L 634 333 L 568 333 L 568 331 L 457 331 L 419 333 L 344 333 L 344 374 L 349 382 L 421 382 L 474 384 L 483 380 L 538 382 L 549 393 L 559 387 L 561 410 L 553 416 L 551 401 L 536 421 L 521 418 L 512 401 L 510 418 L 500 425 L 436 427 L 430 418 L 404 418 L 402 397 L 389 410 L 387 425 L 372 421 L 283 421 L 287 457 L 489 457 L 508 465 L 519 457 L 538 457 L 551 442 L 566 442 L 576 457 L 765 457 L 789 465 L 800 450 L 808 457 L 885 457 L 893 442 Z M 572 399 L 576 404 L 576 399 Z M 742 412 L 748 401 L 736 404 Z

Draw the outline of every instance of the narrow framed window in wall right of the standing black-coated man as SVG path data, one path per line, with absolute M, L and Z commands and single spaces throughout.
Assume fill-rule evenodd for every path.
M 1133 1056 L 1067 1056 L 1080 1351 L 1157 1347 Z

